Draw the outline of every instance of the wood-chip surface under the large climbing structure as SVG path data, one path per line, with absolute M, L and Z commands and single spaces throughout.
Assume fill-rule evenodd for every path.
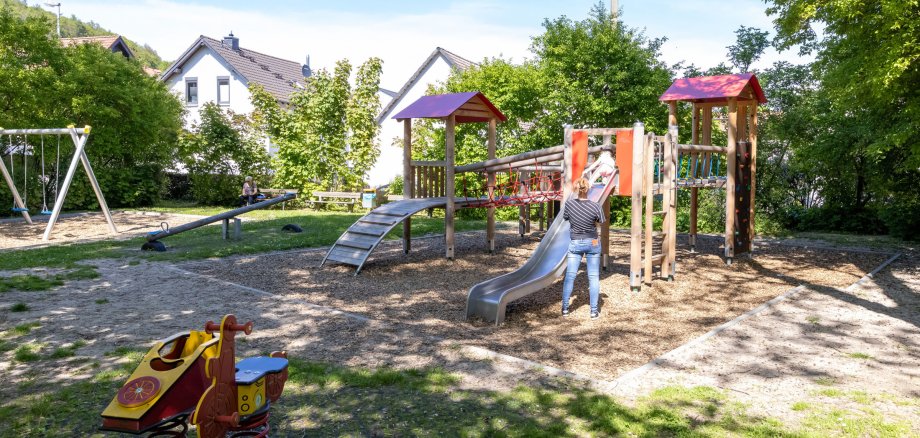
M 317 268 L 322 251 L 209 261 L 186 268 L 288 299 L 363 315 L 418 337 L 420 342 L 443 339 L 592 378 L 612 379 L 790 288 L 800 284 L 845 287 L 887 258 L 886 254 L 770 245 L 758 247 L 753 259 L 741 258 L 729 267 L 717 255 L 721 239 L 703 237 L 695 254 L 686 251 L 685 242 L 679 242 L 674 282 L 656 280 L 636 294 L 627 287 L 627 236 L 613 233 L 614 261 L 601 275 L 599 320 L 588 318 L 587 280 L 581 273 L 575 284 L 574 311 L 568 318 L 559 315 L 560 280 L 512 303 L 501 327 L 467 322 L 469 288 L 523 264 L 538 241 L 537 236 L 521 239 L 503 232 L 498 236 L 497 253 L 489 255 L 484 251 L 484 236 L 468 234 L 457 240 L 453 261 L 443 258 L 441 239 L 413 242 L 408 256 L 402 255 L 399 242 L 388 242 L 357 277 L 348 266 Z M 360 336 L 367 337 L 367 344 L 390 342 L 389 334 L 377 340 L 372 331 Z M 341 362 L 334 355 L 328 359 Z M 416 365 L 427 365 L 424 362 Z

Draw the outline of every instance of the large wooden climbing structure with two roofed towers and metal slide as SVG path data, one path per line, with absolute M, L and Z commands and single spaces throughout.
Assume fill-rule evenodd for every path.
M 668 131 L 664 135 L 645 132 L 637 122 L 632 128 L 566 127 L 565 143 L 515 156 L 495 158 L 496 125 L 506 117 L 481 93 L 424 96 L 394 118 L 404 123 L 404 200 L 384 205 L 359 219 L 336 241 L 323 260 L 356 266 L 355 275 L 383 237 L 403 224 L 403 251 L 411 245 L 411 216 L 430 208 L 445 210 L 445 256 L 454 257 L 454 221 L 457 208 L 486 208 L 486 240 L 494 251 L 495 208 L 519 206 L 524 214 L 529 204 L 546 203 L 557 217 L 540 246 L 525 265 L 513 273 L 480 283 L 470 289 L 467 316 L 479 315 L 501 323 L 508 302 L 548 286 L 564 272 L 564 245 L 568 233 L 558 218 L 560 201 L 572 192 L 574 178 L 581 176 L 603 153 L 615 157 L 617 178 L 595 186 L 592 199 L 610 211 L 609 195 L 632 200 L 630 227 L 629 286 L 639 291 L 642 282 L 652 281 L 659 267 L 662 278 L 671 280 L 677 271 L 677 189 L 691 189 L 690 244 L 697 234 L 698 190 L 726 189 L 725 260 L 752 250 L 754 236 L 753 194 L 757 151 L 758 103 L 766 102 L 752 74 L 679 79 L 661 96 L 668 105 Z M 678 142 L 678 103 L 692 106 L 691 144 Z M 726 107 L 728 144 L 712 142 L 713 108 Z M 445 159 L 411 160 L 413 118 L 445 121 Z M 463 166 L 454 163 L 455 127 L 458 123 L 488 123 L 488 160 Z M 616 139 L 614 145 L 613 139 Z M 592 146 L 593 145 L 593 146 Z M 461 174 L 461 178 L 457 177 Z M 465 175 L 464 175 L 465 174 Z M 473 175 L 473 178 L 467 176 Z M 484 180 L 472 184 L 475 176 Z M 592 180 L 594 174 L 591 175 Z M 456 180 L 461 179 L 462 196 Z M 656 210 L 660 199 L 660 210 Z M 564 205 L 564 204 L 562 204 Z M 654 228 L 661 217 L 661 230 Z M 602 267 L 609 266 L 609 221 L 601 230 Z

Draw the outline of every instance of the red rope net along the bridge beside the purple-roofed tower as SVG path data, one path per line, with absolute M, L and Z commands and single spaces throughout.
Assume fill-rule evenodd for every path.
M 562 172 L 532 164 L 495 170 L 495 184 L 489 185 L 485 171 L 461 178 L 465 207 L 511 207 L 562 200 Z

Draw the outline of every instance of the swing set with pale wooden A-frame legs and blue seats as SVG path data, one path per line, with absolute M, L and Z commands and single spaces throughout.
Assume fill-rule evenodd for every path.
M 118 230 L 115 228 L 115 222 L 112 220 L 112 214 L 105 202 L 105 197 L 102 195 L 102 189 L 99 187 L 99 181 L 96 180 L 96 174 L 93 173 L 93 167 L 90 165 L 89 158 L 86 156 L 86 142 L 89 140 L 89 132 L 89 126 L 84 128 L 75 128 L 72 125 L 61 129 L 0 128 L 0 145 L 2 145 L 3 136 L 6 136 L 6 146 L 8 146 L 9 150 L 9 170 L 6 168 L 6 162 L 0 159 L 0 172 L 3 174 L 3 179 L 6 181 L 7 187 L 9 187 L 10 191 L 13 193 L 13 207 L 11 211 L 14 213 L 22 214 L 23 219 L 25 219 L 25 221 L 30 225 L 32 224 L 32 217 L 29 215 L 28 207 L 29 155 L 34 157 L 36 151 L 34 146 L 35 142 L 33 142 L 32 145 L 29 144 L 29 136 L 40 136 L 42 175 L 39 180 L 42 184 L 42 207 L 39 211 L 39 214 L 43 216 L 49 216 L 48 225 L 45 228 L 45 234 L 42 236 L 42 240 L 44 241 L 47 241 L 51 237 L 51 230 L 54 229 L 54 224 L 60 218 L 61 210 L 64 207 L 64 199 L 67 197 L 67 190 L 70 188 L 70 184 L 73 182 L 73 177 L 76 174 L 78 162 L 83 164 L 83 169 L 86 171 L 86 175 L 93 187 L 93 191 L 96 193 L 96 200 L 99 202 L 99 207 L 102 209 L 102 213 L 105 215 L 105 219 L 109 224 L 109 230 L 112 232 L 112 234 L 118 234 Z M 52 192 L 54 207 L 51 210 L 48 210 L 48 185 L 51 182 L 51 178 L 45 171 L 45 136 L 47 135 L 57 136 L 57 158 L 54 168 L 54 190 Z M 70 166 L 67 167 L 67 173 L 64 176 L 64 183 L 60 184 L 62 135 L 70 136 L 75 149 L 73 158 L 70 160 Z M 20 196 L 20 192 L 16 189 L 15 183 L 15 156 L 17 153 L 22 155 L 22 196 Z

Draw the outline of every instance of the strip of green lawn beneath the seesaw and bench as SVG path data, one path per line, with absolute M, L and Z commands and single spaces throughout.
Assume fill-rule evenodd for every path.
M 220 207 L 171 207 L 166 210 L 171 213 L 184 214 L 214 214 L 226 211 Z M 309 210 L 256 210 L 241 216 L 249 220 L 243 223 L 240 240 L 222 240 L 218 223 L 163 239 L 168 251 L 162 253 L 142 252 L 140 250 L 141 244 L 144 243 L 142 238 L 3 251 L 0 253 L 0 271 L 34 267 L 74 267 L 74 263 L 78 261 L 96 258 L 138 257 L 151 261 L 181 261 L 329 246 L 335 243 L 336 239 L 362 215 L 362 213 Z M 300 225 L 304 232 L 281 231 L 282 226 L 291 223 Z M 483 230 L 486 226 L 485 220 L 458 219 L 455 224 L 458 232 Z M 429 218 L 424 214 L 412 218 L 414 237 L 443 233 L 442 218 Z M 397 226 L 387 235 L 388 239 L 401 237 L 401 226 Z M 2 287 L 0 285 L 0 291 Z

